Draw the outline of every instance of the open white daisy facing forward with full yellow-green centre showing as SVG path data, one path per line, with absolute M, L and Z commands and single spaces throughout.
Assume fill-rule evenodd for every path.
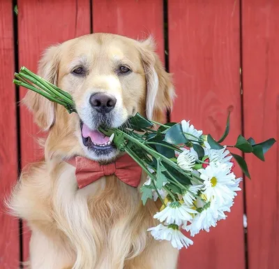
M 229 185 L 235 184 L 235 175 L 229 166 L 222 163 L 218 166 L 210 163 L 205 169 L 199 169 L 200 177 L 204 180 L 203 194 L 208 201 L 216 200 L 218 205 L 225 205 L 234 198 L 234 191 Z

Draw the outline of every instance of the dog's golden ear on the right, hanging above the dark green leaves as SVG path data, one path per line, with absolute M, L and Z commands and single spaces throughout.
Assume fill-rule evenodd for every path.
M 165 121 L 167 110 L 172 109 L 174 86 L 172 76 L 165 71 L 153 38 L 149 37 L 140 43 L 140 53 L 146 74 L 146 117 Z

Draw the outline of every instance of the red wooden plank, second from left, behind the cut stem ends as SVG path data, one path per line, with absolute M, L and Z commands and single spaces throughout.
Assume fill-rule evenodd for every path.
M 17 0 L 20 66 L 36 71 L 40 54 L 52 44 L 90 34 L 88 0 Z M 23 97 L 25 89 L 20 89 Z M 41 136 L 26 108 L 20 109 L 22 166 L 42 157 L 36 139 Z M 24 261 L 28 259 L 29 238 L 24 232 Z

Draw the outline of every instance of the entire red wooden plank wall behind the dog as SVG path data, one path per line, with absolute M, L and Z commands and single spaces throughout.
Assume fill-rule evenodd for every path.
M 17 163 L 24 166 L 41 156 L 36 138 L 42 134 L 29 112 L 15 106 L 17 63 L 36 70 L 49 45 L 92 31 L 132 38 L 152 34 L 160 59 L 174 73 L 178 98 L 172 120 L 191 119 L 218 137 L 231 110 L 229 142 L 239 133 L 278 140 L 278 14 L 277 0 L 1 0 L 0 268 L 18 268 L 20 259 L 28 259 L 28 229 L 23 224 L 20 237 L 19 222 L 3 212 L 2 200 L 17 179 Z M 24 93 L 20 89 L 20 98 Z M 181 251 L 180 269 L 279 268 L 278 145 L 266 163 L 246 160 L 252 181 L 245 181 L 226 221 Z

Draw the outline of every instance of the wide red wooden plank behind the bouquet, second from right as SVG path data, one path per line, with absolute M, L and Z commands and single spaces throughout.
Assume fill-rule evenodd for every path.
M 219 138 L 232 110 L 226 140 L 232 144 L 241 133 L 239 1 L 168 3 L 169 71 L 178 95 L 171 118 L 191 119 L 197 129 Z M 236 175 L 242 175 L 239 169 Z M 245 268 L 242 194 L 235 200 L 225 221 L 181 251 L 181 269 Z

